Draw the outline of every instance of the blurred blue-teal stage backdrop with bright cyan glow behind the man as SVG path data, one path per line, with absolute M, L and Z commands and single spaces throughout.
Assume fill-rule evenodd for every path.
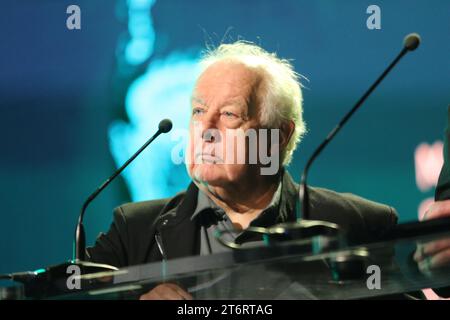
M 75 4 L 81 29 L 67 28 Z M 371 5 L 377 9 L 372 11 Z M 368 10 L 369 8 L 369 10 Z M 379 10 L 378 10 L 379 9 Z M 368 12 L 369 11 L 369 12 Z M 373 14 L 379 13 L 378 29 Z M 0 4 L 0 273 L 71 258 L 85 197 L 156 129 L 174 122 L 88 209 L 88 243 L 114 207 L 171 196 L 196 62 L 206 45 L 253 41 L 293 59 L 303 80 L 306 159 L 399 52 L 406 56 L 314 164 L 313 185 L 418 218 L 442 164 L 450 102 L 450 2 L 3 0 Z

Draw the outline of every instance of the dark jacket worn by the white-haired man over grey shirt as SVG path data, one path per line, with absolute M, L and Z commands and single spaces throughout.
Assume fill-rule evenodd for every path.
M 291 198 L 298 185 L 289 174 L 283 185 Z M 350 243 L 381 239 L 397 223 L 393 208 L 361 197 L 322 188 L 310 188 L 310 218 L 336 223 L 348 232 Z M 173 198 L 128 203 L 115 209 L 106 234 L 87 249 L 88 259 L 116 267 L 174 259 L 200 253 L 200 224 L 191 220 L 198 189 L 191 183 Z M 286 221 L 295 220 L 295 203 Z

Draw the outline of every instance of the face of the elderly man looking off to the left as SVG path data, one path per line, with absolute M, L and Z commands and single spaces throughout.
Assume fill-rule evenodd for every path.
M 260 83 L 255 71 L 233 62 L 215 63 L 200 76 L 192 97 L 188 149 L 194 180 L 223 187 L 259 174 L 257 164 L 248 164 L 249 139 L 242 145 L 227 136 L 259 128 Z M 239 153 L 245 163 L 237 161 Z

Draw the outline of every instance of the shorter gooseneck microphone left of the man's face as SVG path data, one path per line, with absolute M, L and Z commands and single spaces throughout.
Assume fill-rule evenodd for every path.
M 83 226 L 83 219 L 89 204 L 94 200 L 100 192 L 102 192 L 147 146 L 153 142 L 161 133 L 167 133 L 172 129 L 172 122 L 168 119 L 164 119 L 159 123 L 158 131 L 147 140 L 147 142 L 136 151 L 119 169 L 117 169 L 103 184 L 97 188 L 84 202 L 81 207 L 80 216 L 78 217 L 78 223 L 75 230 L 75 249 L 74 259 L 75 261 L 84 261 L 86 258 L 86 235 Z

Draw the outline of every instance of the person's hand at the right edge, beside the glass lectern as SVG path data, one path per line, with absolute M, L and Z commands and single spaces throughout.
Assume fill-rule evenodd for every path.
M 425 213 L 424 220 L 442 217 L 450 217 L 450 200 L 433 203 Z M 423 273 L 430 273 L 431 269 L 450 265 L 450 237 L 419 243 L 414 254 L 414 260 Z

